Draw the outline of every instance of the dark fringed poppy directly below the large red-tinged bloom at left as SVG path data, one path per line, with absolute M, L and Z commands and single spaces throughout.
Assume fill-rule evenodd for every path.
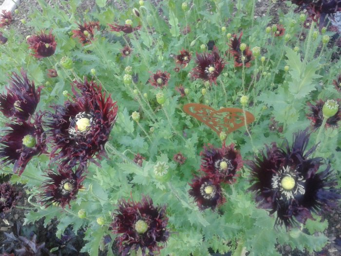
M 78 190 L 82 188 L 81 183 L 85 179 L 83 166 L 79 165 L 75 172 L 68 166 L 60 166 L 58 172 L 48 171 L 42 184 L 44 192 L 41 194 L 40 202 L 46 207 L 51 204 L 60 205 L 65 208 L 70 201 L 76 199 Z

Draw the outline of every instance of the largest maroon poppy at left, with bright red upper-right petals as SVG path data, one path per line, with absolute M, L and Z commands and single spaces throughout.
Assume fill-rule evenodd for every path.
M 63 106 L 54 106 L 55 113 L 47 112 L 46 121 L 52 142 L 50 157 L 71 167 L 86 165 L 95 156 L 101 159 L 117 114 L 116 102 L 110 95 L 106 98 L 102 86 L 93 80 L 74 81 L 73 92 Z

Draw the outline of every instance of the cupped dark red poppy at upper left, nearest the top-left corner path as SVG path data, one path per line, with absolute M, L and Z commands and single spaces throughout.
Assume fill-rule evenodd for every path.
M 29 37 L 27 43 L 30 45 L 29 48 L 35 52 L 33 56 L 36 58 L 52 56 L 55 53 L 57 46 L 52 31 L 50 31 L 49 34 L 45 34 L 41 31 L 39 35 Z

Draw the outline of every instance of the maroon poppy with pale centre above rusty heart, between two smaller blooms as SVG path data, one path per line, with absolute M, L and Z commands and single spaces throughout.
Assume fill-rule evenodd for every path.
M 197 66 L 191 72 L 192 77 L 209 81 L 210 84 L 217 84 L 217 77 L 219 77 L 226 64 L 220 57 L 218 48 L 215 46 L 211 53 L 196 53 L 195 63 Z

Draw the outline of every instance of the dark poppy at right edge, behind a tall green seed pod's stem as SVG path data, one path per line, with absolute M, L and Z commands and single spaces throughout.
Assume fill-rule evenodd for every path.
M 341 120 L 341 99 L 338 98 L 337 102 L 339 104 L 339 109 L 336 114 L 327 119 L 326 126 L 336 128 L 338 127 L 338 122 Z M 323 113 L 322 107 L 324 105 L 324 101 L 322 99 L 317 100 L 314 102 L 315 104 L 311 104 L 310 102 L 307 103 L 309 106 L 310 112 L 307 114 L 307 118 L 311 120 L 311 125 L 316 130 L 322 125 L 323 121 Z

